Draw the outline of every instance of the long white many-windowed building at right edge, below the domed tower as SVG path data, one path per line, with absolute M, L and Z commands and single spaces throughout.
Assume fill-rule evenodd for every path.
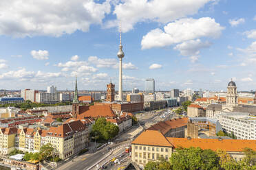
M 256 117 L 246 112 L 222 112 L 218 115 L 222 129 L 237 139 L 256 139 Z

